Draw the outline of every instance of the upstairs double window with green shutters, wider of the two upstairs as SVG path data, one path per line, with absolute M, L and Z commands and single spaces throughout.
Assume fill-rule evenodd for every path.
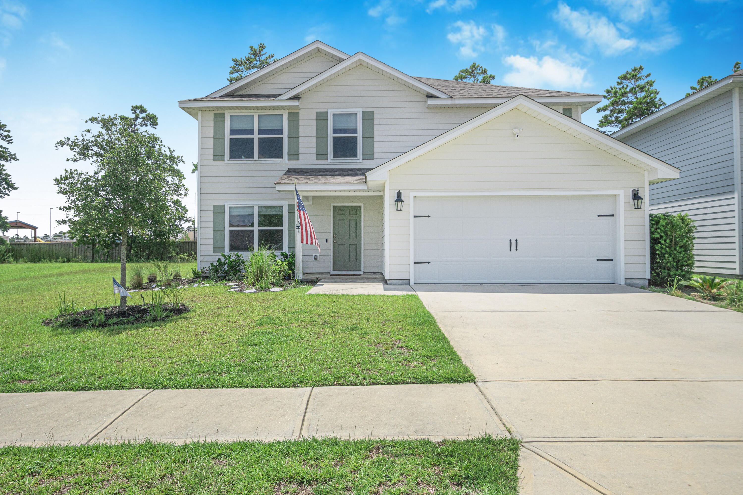
M 285 160 L 285 115 L 228 114 L 229 160 Z

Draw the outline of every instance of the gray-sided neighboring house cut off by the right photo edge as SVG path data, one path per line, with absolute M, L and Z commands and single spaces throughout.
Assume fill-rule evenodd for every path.
M 743 275 L 742 87 L 738 71 L 611 134 L 681 169 L 650 187 L 650 212 L 696 221 L 696 272 Z

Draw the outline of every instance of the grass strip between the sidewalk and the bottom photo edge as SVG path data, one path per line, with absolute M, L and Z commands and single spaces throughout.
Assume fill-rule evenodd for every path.
M 0 448 L 12 494 L 516 494 L 519 442 L 163 443 Z

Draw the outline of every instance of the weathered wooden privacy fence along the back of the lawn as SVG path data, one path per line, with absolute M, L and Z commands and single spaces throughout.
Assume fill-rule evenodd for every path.
M 82 261 L 90 261 L 93 255 L 91 246 L 75 246 L 73 243 L 9 243 L 13 252 L 13 259 L 20 260 L 25 258 L 31 263 L 42 260 L 75 260 L 80 258 Z M 182 240 L 175 243 L 178 253 L 186 255 L 196 255 L 196 241 Z M 121 257 L 121 246 L 114 249 L 103 251 L 96 248 L 96 261 L 117 261 Z

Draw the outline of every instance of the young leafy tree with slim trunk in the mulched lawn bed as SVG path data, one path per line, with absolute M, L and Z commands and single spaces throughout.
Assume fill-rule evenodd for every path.
M 67 160 L 94 166 L 92 172 L 65 169 L 54 179 L 66 197 L 61 208 L 66 217 L 57 223 L 68 224 L 77 243 L 120 241 L 120 283 L 126 286 L 129 233 L 147 229 L 152 218 L 178 218 L 186 212 L 179 199 L 188 194 L 178 168 L 183 158 L 149 131 L 157 127 L 158 117 L 142 105 L 132 105 L 132 117 L 99 114 L 85 122 L 100 129 L 85 129 L 79 137 L 65 137 L 55 145 L 72 151 Z M 126 298 L 120 307 L 126 311 Z

